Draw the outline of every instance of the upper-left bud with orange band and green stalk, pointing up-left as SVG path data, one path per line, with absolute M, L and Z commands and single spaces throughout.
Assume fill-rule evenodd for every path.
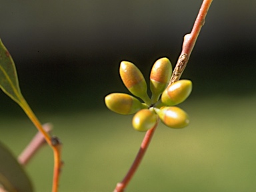
M 133 95 L 140 97 L 147 105 L 151 105 L 151 101 L 147 95 L 147 83 L 141 71 L 133 63 L 122 61 L 119 73 L 125 87 Z

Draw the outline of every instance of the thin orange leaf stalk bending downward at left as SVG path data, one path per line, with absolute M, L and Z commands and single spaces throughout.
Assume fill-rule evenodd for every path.
M 53 187 L 52 187 L 52 192 L 57 192 L 58 191 L 58 186 L 59 186 L 59 173 L 61 171 L 61 167 L 63 165 L 63 162 L 61 161 L 61 143 L 57 137 L 51 137 L 45 129 L 43 129 L 43 126 L 25 101 L 25 99 L 21 98 L 21 102 L 19 103 L 21 105 L 21 108 L 29 119 L 33 122 L 35 127 L 37 127 L 38 131 L 43 135 L 45 141 L 48 143 L 49 146 L 53 149 L 53 157 L 54 157 L 54 170 L 53 170 Z

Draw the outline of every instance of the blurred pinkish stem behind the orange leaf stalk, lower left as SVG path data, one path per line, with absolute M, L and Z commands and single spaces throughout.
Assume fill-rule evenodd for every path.
M 47 133 L 51 131 L 51 124 L 46 123 L 43 125 L 43 129 Z M 33 139 L 30 141 L 29 145 L 21 152 L 21 155 L 18 157 L 18 161 L 21 165 L 25 166 L 35 155 L 35 153 L 45 144 L 45 137 L 43 137 L 41 132 L 38 132 Z

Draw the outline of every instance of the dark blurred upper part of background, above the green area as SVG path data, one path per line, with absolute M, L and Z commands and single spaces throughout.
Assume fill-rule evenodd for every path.
M 175 65 L 202 1 L 0 2 L 0 37 L 21 91 L 33 109 L 49 112 L 104 107 L 107 93 L 126 92 L 122 60 L 146 79 L 160 57 Z M 255 92 L 255 6 L 213 1 L 182 77 L 193 81 L 191 98 Z M 0 94 L 1 111 L 11 110 Z

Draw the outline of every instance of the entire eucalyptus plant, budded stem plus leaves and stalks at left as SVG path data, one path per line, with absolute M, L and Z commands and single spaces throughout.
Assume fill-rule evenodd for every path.
M 110 93 L 105 97 L 107 107 L 122 115 L 133 114 L 132 125 L 137 131 L 147 131 L 141 143 L 137 157 L 124 179 L 117 183 L 115 192 L 124 191 L 133 177 L 137 167 L 145 155 L 153 133 L 159 123 L 163 122 L 167 127 L 179 129 L 189 125 L 189 115 L 183 109 L 175 106 L 189 97 L 192 91 L 192 82 L 181 79 L 181 75 L 189 61 L 191 51 L 195 45 L 201 27 L 205 23 L 207 11 L 213 0 L 204 0 L 191 33 L 185 35 L 181 55 L 173 69 L 167 57 L 157 59 L 150 73 L 151 97 L 147 94 L 147 83 L 141 71 L 131 62 L 122 61 L 119 68 L 120 77 L 132 95 L 127 93 Z M 29 104 L 23 97 L 19 88 L 19 81 L 15 63 L 0 39 L 0 88 L 13 101 L 15 101 L 27 114 L 39 131 L 35 137 L 35 150 L 46 141 L 53 149 L 54 170 L 52 192 L 59 190 L 59 176 L 62 168 L 62 145 L 58 137 L 52 137 L 49 133 L 49 125 L 41 125 Z M 7 147 L 0 143 L 0 191 L 32 192 L 31 181 L 27 177 L 23 166 L 31 158 L 30 155 L 15 159 Z M 43 166 L 43 165 L 42 165 Z

